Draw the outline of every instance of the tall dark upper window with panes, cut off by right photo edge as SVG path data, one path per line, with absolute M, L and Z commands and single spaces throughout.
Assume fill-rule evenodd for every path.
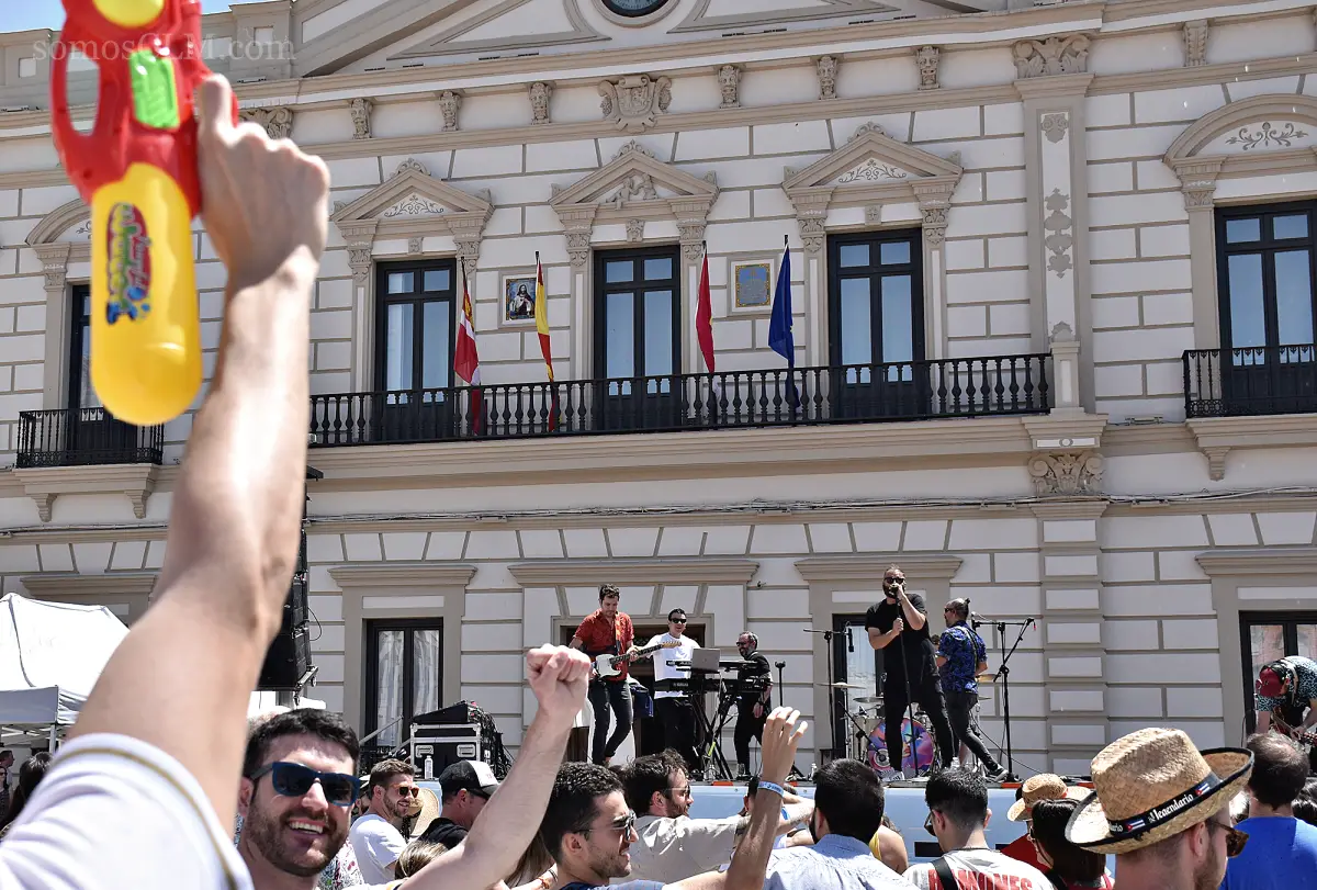
M 1234 365 L 1264 362 L 1267 352 L 1313 361 L 1314 211 L 1314 201 L 1217 211 L 1221 344 L 1241 350 Z

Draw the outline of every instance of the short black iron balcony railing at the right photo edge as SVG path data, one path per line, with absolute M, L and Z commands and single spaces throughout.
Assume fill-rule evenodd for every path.
M 1249 346 L 1184 353 L 1188 417 L 1317 412 L 1317 346 Z

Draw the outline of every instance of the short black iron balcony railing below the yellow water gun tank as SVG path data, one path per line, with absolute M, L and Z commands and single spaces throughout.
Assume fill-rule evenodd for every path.
M 18 413 L 20 467 L 159 463 L 163 427 L 133 427 L 104 408 Z

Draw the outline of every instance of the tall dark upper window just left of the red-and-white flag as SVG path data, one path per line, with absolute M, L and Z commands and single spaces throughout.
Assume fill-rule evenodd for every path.
M 382 263 L 375 294 L 377 387 L 407 392 L 452 386 L 453 261 Z

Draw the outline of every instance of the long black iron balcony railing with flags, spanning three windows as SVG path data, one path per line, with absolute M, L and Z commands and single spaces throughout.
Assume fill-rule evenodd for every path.
M 1044 413 L 1048 354 L 311 399 L 317 446 Z

